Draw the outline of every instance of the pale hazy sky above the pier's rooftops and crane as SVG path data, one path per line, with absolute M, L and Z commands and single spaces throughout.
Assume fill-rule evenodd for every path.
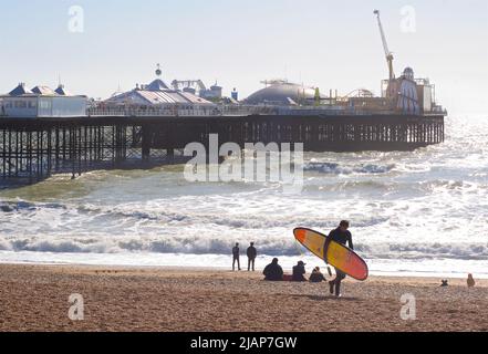
M 160 63 L 166 82 L 218 80 L 227 94 L 237 87 L 241 97 L 261 88 L 261 80 L 284 76 L 323 92 L 365 87 L 380 94 L 387 66 L 373 15 L 377 8 L 396 74 L 409 65 L 436 84 L 437 98 L 451 115 L 488 118 L 487 0 L 0 4 L 1 93 L 19 82 L 55 86 L 61 75 L 74 93 L 107 97 L 118 86 L 148 83 Z M 70 31 L 73 6 L 84 10 L 82 33 Z

